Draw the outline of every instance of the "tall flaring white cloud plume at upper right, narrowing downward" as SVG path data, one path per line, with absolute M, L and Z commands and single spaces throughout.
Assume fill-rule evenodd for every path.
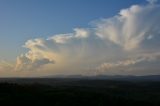
M 160 30 L 159 10 L 159 5 L 133 5 L 122 9 L 119 15 L 97 23 L 97 35 L 125 50 L 138 48 L 145 38 L 157 35 Z

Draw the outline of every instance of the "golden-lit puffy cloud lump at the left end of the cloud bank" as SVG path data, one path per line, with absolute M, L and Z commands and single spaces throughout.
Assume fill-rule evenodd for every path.
M 54 60 L 47 54 L 45 40 L 28 40 L 23 47 L 28 48 L 29 51 L 17 57 L 16 70 L 36 70 L 45 64 L 54 63 Z

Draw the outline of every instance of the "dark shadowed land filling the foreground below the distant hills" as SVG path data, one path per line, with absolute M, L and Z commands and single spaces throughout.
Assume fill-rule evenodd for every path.
M 160 82 L 59 80 L 64 81 L 56 80 L 53 81 L 54 84 L 1 82 L 0 104 L 3 106 L 160 106 Z

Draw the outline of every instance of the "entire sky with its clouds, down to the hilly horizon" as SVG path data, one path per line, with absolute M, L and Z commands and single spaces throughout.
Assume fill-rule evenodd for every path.
M 0 0 L 0 77 L 160 74 L 158 0 Z

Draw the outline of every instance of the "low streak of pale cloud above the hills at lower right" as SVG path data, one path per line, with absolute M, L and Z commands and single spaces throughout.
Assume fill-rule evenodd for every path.
M 141 74 L 146 74 L 148 70 L 150 73 L 155 73 L 154 69 L 157 69 L 157 67 L 154 67 L 155 62 L 156 62 L 156 66 L 160 65 L 159 63 L 160 53 L 143 54 L 141 56 L 131 57 L 131 58 L 116 61 L 116 62 L 104 62 L 96 68 L 95 72 L 96 74 L 104 74 L 104 73 L 130 74 L 132 72 L 135 72 L 136 74 L 138 73 L 140 74 L 139 71 L 143 67 L 144 72 Z M 146 66 L 146 64 L 148 66 Z

